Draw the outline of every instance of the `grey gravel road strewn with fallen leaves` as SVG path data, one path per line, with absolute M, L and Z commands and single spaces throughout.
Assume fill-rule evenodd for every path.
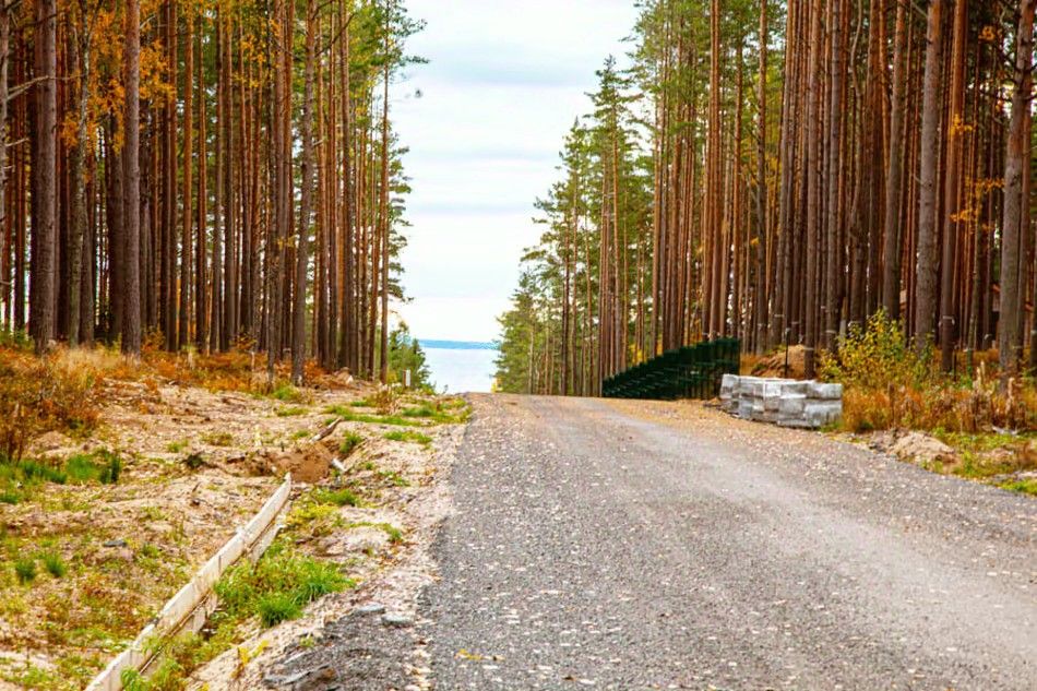
M 695 404 L 472 401 L 436 689 L 1037 689 L 1037 500 Z

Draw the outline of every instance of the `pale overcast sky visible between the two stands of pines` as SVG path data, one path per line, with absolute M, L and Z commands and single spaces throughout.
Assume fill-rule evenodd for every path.
M 622 56 L 634 0 L 408 0 L 429 60 L 394 85 L 410 147 L 414 227 L 400 312 L 419 338 L 491 341 L 540 230 L 533 203 L 607 56 Z M 414 97 L 420 91 L 421 97 Z

